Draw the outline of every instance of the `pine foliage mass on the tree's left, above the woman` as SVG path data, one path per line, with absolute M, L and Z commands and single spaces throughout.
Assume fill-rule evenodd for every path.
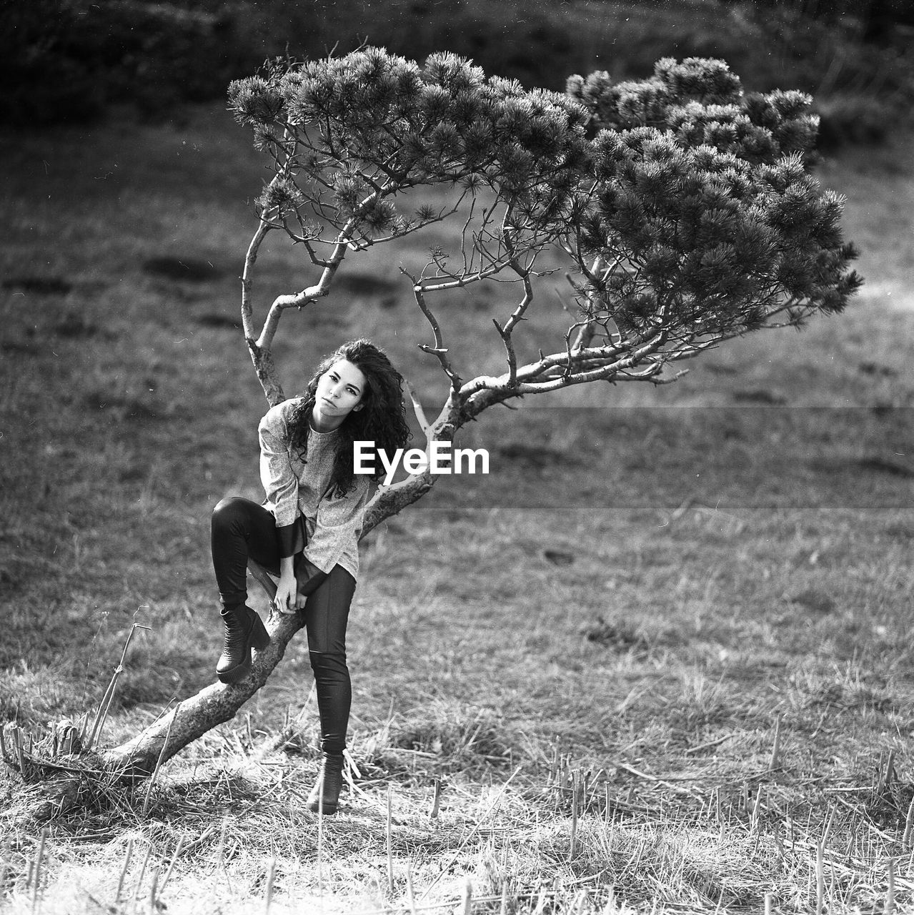
M 402 213 L 409 188 L 488 188 L 521 209 L 530 231 L 554 233 L 586 160 L 585 109 L 556 92 L 486 78 L 443 52 L 420 66 L 382 48 L 275 65 L 235 81 L 230 106 L 274 158 L 259 199 L 265 218 L 303 207 L 331 234 L 377 242 L 439 218 Z

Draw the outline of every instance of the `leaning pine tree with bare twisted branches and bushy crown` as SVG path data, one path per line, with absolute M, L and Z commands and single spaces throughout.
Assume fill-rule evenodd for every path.
M 349 260 L 432 223 L 452 227 L 454 253 L 434 249 L 405 279 L 428 328 L 420 358 L 446 376 L 435 418 L 414 397 L 429 448 L 493 404 L 585 382 L 671 381 L 671 364 L 726 339 L 840 311 L 860 281 L 842 201 L 809 173 L 809 103 L 746 94 L 725 63 L 704 59 L 661 60 L 645 81 L 573 77 L 566 95 L 487 78 L 450 54 L 419 66 L 379 48 L 232 83 L 231 110 L 273 171 L 242 276 L 243 333 L 267 401 L 284 397 L 272 347 L 285 311 L 320 307 Z M 417 188 L 439 188 L 440 204 L 414 208 Z M 266 305 L 254 274 L 269 232 L 301 250 L 303 283 Z M 555 307 L 552 295 L 534 299 L 547 251 L 574 277 L 559 306 L 567 319 L 524 363 L 522 319 Z M 494 328 L 486 316 L 480 332 L 497 335 L 504 371 L 463 377 L 435 296 L 503 278 L 518 291 L 513 310 Z M 426 470 L 380 489 L 365 532 L 433 482 Z M 231 718 L 300 625 L 274 619 L 245 680 L 207 687 L 103 761 L 148 773 Z

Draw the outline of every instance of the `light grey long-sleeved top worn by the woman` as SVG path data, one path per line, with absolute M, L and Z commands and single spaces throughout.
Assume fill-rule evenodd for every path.
M 356 475 L 355 487 L 345 496 L 327 492 L 333 459 L 339 447 L 337 431 L 308 433 L 303 461 L 289 446 L 288 422 L 301 398 L 276 404 L 260 421 L 260 477 L 266 507 L 273 512 L 279 534 L 280 555 L 291 556 L 302 548 L 296 529 L 305 521 L 305 556 L 322 572 L 341 565 L 353 578 L 359 576 L 359 535 L 369 478 Z M 326 493 L 326 495 L 325 495 Z

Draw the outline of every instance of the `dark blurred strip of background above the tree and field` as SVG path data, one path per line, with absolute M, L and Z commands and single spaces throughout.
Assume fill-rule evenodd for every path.
M 382 45 L 447 49 L 527 87 L 644 77 L 662 56 L 722 57 L 750 90 L 816 96 L 823 144 L 874 141 L 914 93 L 908 0 L 16 0 L 0 11 L 0 120 L 146 118 L 220 98 L 264 59 Z

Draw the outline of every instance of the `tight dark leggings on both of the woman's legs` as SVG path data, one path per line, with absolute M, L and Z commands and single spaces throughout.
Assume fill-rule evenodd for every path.
M 279 574 L 279 538 L 271 511 L 250 499 L 230 496 L 212 512 L 210 545 L 216 584 L 226 609 L 247 600 L 248 558 Z M 352 686 L 346 665 L 346 624 L 355 578 L 341 565 L 308 596 L 305 615 L 308 654 L 317 684 L 321 749 L 341 753 L 346 746 Z

